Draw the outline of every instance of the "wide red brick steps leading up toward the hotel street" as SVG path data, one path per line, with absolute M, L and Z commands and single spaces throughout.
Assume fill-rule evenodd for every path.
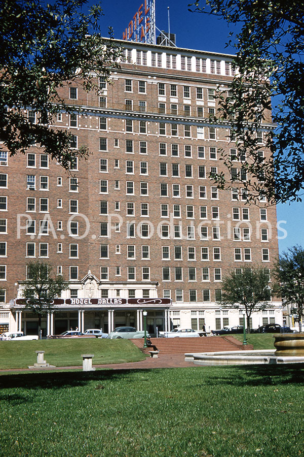
M 242 343 L 232 337 L 229 339 L 220 336 L 201 338 L 151 338 L 150 340 L 151 343 L 161 351 L 161 354 L 242 350 Z M 142 348 L 143 339 L 140 338 L 131 341 L 137 347 Z

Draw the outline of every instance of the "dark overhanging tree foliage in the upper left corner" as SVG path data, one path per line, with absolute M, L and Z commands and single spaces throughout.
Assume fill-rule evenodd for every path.
M 108 39 L 98 32 L 100 5 L 85 14 L 87 3 L 0 0 L 0 138 L 11 156 L 34 143 L 69 168 L 71 135 L 52 124 L 56 113 L 77 108 L 64 102 L 58 88 L 73 84 L 100 93 L 98 77 L 107 80 L 120 55 L 111 31 Z M 87 153 L 85 147 L 77 151 Z

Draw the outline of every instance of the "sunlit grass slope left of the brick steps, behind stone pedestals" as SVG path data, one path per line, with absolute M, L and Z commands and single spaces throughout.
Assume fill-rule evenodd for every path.
M 56 367 L 82 365 L 81 354 L 94 354 L 93 365 L 137 362 L 145 356 L 128 340 L 73 338 L 41 341 L 0 341 L 0 369 L 27 368 L 37 361 L 36 350 Z

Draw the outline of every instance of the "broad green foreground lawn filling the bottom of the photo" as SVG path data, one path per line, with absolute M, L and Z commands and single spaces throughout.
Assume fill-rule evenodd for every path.
M 304 364 L 0 377 L 6 457 L 298 457 Z

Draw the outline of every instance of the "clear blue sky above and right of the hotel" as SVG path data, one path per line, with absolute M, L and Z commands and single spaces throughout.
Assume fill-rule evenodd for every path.
M 201 0 L 203 3 L 203 0 Z M 94 2 L 89 1 L 90 4 Z M 115 38 L 121 39 L 123 30 L 133 18 L 142 0 L 111 0 L 102 2 L 104 17 L 101 31 L 107 35 L 108 26 L 114 29 Z M 144 3 L 144 2 L 143 2 Z M 156 0 L 156 25 L 161 30 L 168 30 L 168 7 L 170 8 L 170 31 L 176 34 L 176 45 L 189 49 L 234 53 L 232 47 L 225 47 L 228 41 L 228 26 L 223 20 L 206 14 L 188 11 L 187 0 Z M 277 205 L 278 221 L 286 221 L 280 226 L 287 231 L 285 239 L 279 239 L 280 252 L 295 244 L 303 245 L 301 227 L 304 227 L 304 204 L 286 203 Z M 279 233 L 282 236 L 282 232 Z

